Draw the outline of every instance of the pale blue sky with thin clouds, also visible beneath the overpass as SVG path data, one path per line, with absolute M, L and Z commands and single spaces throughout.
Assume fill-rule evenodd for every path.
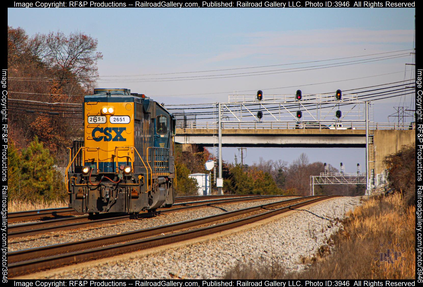
M 98 51 L 103 54 L 98 63 L 100 76 L 123 76 L 268 66 L 411 49 L 414 16 L 414 8 L 9 8 L 8 25 L 22 27 L 29 35 L 57 30 L 89 34 L 98 39 Z M 305 94 L 327 93 L 397 82 L 410 78 L 410 73 L 404 75 L 404 64 L 411 60 L 403 57 L 314 71 L 190 81 L 101 77 L 98 86 L 127 87 L 166 104 L 214 103 L 227 101 L 227 92 L 233 90 L 293 94 L 296 88 L 266 89 L 297 85 Z M 215 94 L 171 96 L 196 93 Z M 387 115 L 397 105 L 397 98 L 378 101 L 375 119 L 387 122 Z M 326 161 L 336 167 L 343 161 L 351 171 L 357 162 L 364 164 L 364 149 L 248 150 L 247 163 L 258 161 L 259 156 L 275 159 L 275 154 L 292 161 L 305 152 L 310 161 Z M 238 150 L 224 148 L 224 159 L 232 161 L 235 153 Z

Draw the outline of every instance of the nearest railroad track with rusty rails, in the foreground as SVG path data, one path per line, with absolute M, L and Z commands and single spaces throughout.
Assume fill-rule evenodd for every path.
M 330 199 L 335 196 L 310 196 L 291 200 L 272 202 L 265 205 L 258 205 L 240 210 L 228 211 L 213 216 L 207 216 L 199 219 L 167 224 L 159 227 L 152 227 L 143 230 L 135 230 L 115 235 L 107 235 L 99 238 L 90 238 L 82 241 L 60 243 L 51 246 L 42 246 L 38 248 L 19 250 L 8 253 L 8 274 L 9 277 L 34 273 L 40 270 L 56 268 L 64 265 L 78 262 L 110 257 L 117 254 L 123 254 L 132 251 L 148 249 L 156 246 L 162 246 L 169 243 L 184 241 L 191 238 L 197 238 L 203 235 L 209 235 L 224 230 L 229 230 L 245 224 L 253 223 L 259 220 L 284 213 L 313 202 Z M 300 201 L 299 203 L 293 202 Z M 281 208 L 268 210 L 278 205 L 287 205 Z M 216 223 L 224 219 L 235 216 L 245 215 L 258 210 L 268 210 L 259 214 Z M 206 227 L 200 227 L 192 230 L 183 230 L 190 227 L 201 226 L 215 222 L 216 224 Z M 182 230 L 182 231 L 180 231 Z M 175 232 L 179 231 L 179 232 Z M 165 235 L 154 236 L 166 233 Z M 169 233 L 174 232 L 174 233 Z

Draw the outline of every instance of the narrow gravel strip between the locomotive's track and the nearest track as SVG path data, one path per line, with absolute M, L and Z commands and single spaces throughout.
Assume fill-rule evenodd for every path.
M 155 227 L 185 221 L 205 216 L 210 216 L 226 211 L 262 205 L 271 202 L 282 200 L 289 200 L 293 197 L 279 197 L 270 200 L 257 200 L 251 202 L 229 203 L 229 204 L 215 204 L 206 208 L 195 208 L 188 210 L 181 210 L 173 213 L 158 215 L 153 218 L 141 218 L 126 220 L 117 223 L 101 224 L 94 227 L 83 227 L 73 230 L 63 230 L 56 232 L 48 232 L 45 234 L 38 234 L 26 236 L 21 238 L 11 238 L 8 240 L 8 251 L 16 251 L 40 246 L 47 246 L 58 243 L 65 243 L 71 241 L 78 241 L 87 238 L 95 238 L 104 235 L 111 235 L 116 233 L 123 233 L 132 230 L 139 230 L 144 228 Z

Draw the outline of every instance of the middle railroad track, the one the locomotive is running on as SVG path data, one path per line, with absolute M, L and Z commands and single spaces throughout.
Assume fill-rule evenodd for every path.
M 63 219 L 53 219 L 48 221 L 25 223 L 25 224 L 16 224 L 8 227 L 8 239 L 25 237 L 29 235 L 36 235 L 41 233 L 59 231 L 59 230 L 69 230 L 82 227 L 89 227 L 99 224 L 108 224 L 108 223 L 117 223 L 121 221 L 126 221 L 129 219 L 137 219 L 142 217 L 153 216 L 154 214 L 166 214 L 171 212 L 177 212 L 185 209 L 192 208 L 201 208 L 207 207 L 215 204 L 225 204 L 231 202 L 247 202 L 253 200 L 262 200 L 262 199 L 272 199 L 275 197 L 283 197 L 280 195 L 275 196 L 243 196 L 237 198 L 218 198 L 218 199 L 208 199 L 208 200 L 196 200 L 190 202 L 180 202 L 174 204 L 171 208 L 163 208 L 157 211 L 156 213 L 140 213 L 137 215 L 131 214 L 113 214 L 113 213 L 102 213 L 98 216 L 77 216 L 69 217 Z M 203 197 L 204 198 L 204 197 Z M 209 197 L 207 197 L 209 198 Z

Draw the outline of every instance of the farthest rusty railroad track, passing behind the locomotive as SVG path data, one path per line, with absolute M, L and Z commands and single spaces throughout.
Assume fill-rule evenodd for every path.
M 184 201 L 197 201 L 204 200 L 206 198 L 227 198 L 227 197 L 244 197 L 249 196 L 250 194 L 233 194 L 233 195 L 205 195 L 205 196 L 187 196 L 187 197 L 175 197 L 175 202 L 184 202 Z M 27 210 L 27 211 L 18 211 L 10 212 L 7 214 L 9 222 L 16 221 L 28 221 L 33 219 L 42 219 L 48 217 L 61 217 L 66 215 L 74 215 L 77 212 L 73 208 L 61 207 L 61 208 L 49 208 L 49 209 L 39 209 L 39 210 Z

